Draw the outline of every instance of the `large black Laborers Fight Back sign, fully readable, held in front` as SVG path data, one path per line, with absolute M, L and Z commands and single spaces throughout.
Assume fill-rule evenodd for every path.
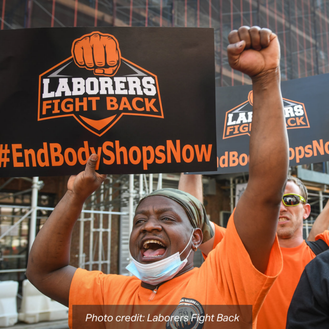
M 0 32 L 0 177 L 216 169 L 213 29 Z

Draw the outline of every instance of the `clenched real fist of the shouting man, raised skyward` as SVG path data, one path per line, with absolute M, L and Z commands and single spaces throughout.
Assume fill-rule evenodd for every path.
M 227 53 L 232 69 L 255 77 L 279 68 L 280 45 L 271 30 L 243 26 L 230 32 L 229 42 Z

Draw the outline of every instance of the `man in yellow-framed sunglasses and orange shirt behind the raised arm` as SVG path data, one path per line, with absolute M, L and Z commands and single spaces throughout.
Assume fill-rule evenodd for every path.
M 201 175 L 181 175 L 179 189 L 189 192 L 202 201 Z M 283 269 L 265 298 L 257 319 L 259 329 L 285 329 L 287 312 L 304 267 L 315 258 L 310 242 L 303 239 L 303 220 L 309 217 L 311 206 L 307 203 L 308 190 L 293 176 L 288 176 L 280 206 L 277 236 L 283 256 Z M 257 202 L 255 202 L 257 207 Z M 225 236 L 225 228 L 211 222 L 215 235 L 200 246 L 207 255 Z M 309 234 L 309 241 L 321 249 L 329 245 L 329 202 L 317 217 Z M 321 245 L 322 243 L 322 245 Z M 312 246 L 314 249 L 314 246 Z M 322 249 L 323 250 L 323 249 Z

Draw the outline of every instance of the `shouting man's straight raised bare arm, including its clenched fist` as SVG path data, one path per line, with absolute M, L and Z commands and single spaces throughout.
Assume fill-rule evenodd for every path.
M 280 46 L 268 29 L 229 34 L 231 67 L 253 85 L 249 182 L 234 213 L 236 230 L 256 269 L 267 269 L 288 174 L 288 137 L 280 91 Z

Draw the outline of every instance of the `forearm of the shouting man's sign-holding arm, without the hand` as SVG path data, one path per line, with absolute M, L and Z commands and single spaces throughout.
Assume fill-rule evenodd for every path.
M 71 236 L 83 201 L 68 191 L 37 234 L 30 255 L 27 276 L 47 276 L 69 265 Z

